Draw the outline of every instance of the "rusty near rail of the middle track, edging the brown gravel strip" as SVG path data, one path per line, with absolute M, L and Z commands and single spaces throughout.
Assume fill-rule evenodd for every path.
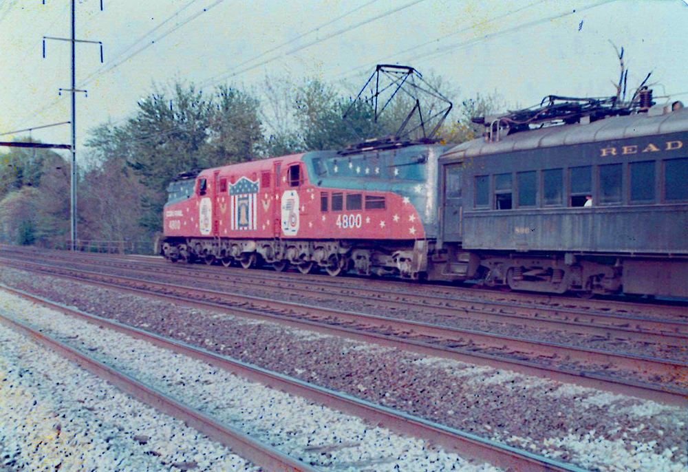
M 39 264 L 33 264 L 30 263 L 30 265 L 37 266 Z M 39 269 L 33 269 L 34 272 L 39 272 L 39 273 L 45 273 L 46 275 L 55 275 L 54 272 L 43 272 L 42 270 Z M 67 270 L 69 271 L 69 270 Z M 78 272 L 78 271 L 74 271 Z M 102 276 L 101 274 L 95 273 L 96 276 Z M 212 296 L 213 301 L 209 301 L 208 299 L 205 300 L 199 300 L 199 299 L 189 299 L 187 297 L 184 297 L 184 290 L 186 288 L 178 288 L 176 286 L 165 286 L 166 290 L 164 293 L 160 292 L 149 292 L 147 290 L 142 290 L 140 288 L 133 288 L 133 287 L 126 287 L 126 286 L 120 286 L 120 285 L 114 285 L 112 283 L 108 283 L 107 281 L 103 280 L 94 280 L 94 279 L 83 279 L 79 277 L 72 277 L 69 275 L 61 275 L 61 277 L 67 278 L 67 279 L 74 279 L 75 281 L 79 281 L 82 283 L 89 283 L 92 285 L 96 286 L 102 286 L 105 288 L 110 288 L 118 291 L 123 291 L 123 292 L 130 292 L 130 293 L 135 293 L 135 294 L 140 294 L 144 297 L 149 297 L 149 298 L 155 298 L 155 299 L 160 299 L 164 301 L 170 301 L 171 299 L 175 301 L 175 303 L 179 304 L 184 304 L 188 306 L 193 306 L 195 308 L 205 308 L 205 309 L 215 309 L 215 310 L 222 310 L 224 312 L 228 312 L 230 314 L 235 314 L 240 317 L 245 317 L 245 318 L 250 318 L 250 319 L 262 319 L 262 320 L 270 320 L 270 321 L 277 321 L 278 323 L 281 324 L 286 324 L 290 326 L 294 326 L 296 328 L 305 328 L 309 330 L 314 330 L 316 332 L 321 332 L 323 334 L 335 334 L 338 336 L 345 336 L 349 339 L 356 339 L 358 341 L 365 341 L 369 343 L 378 343 L 380 345 L 385 345 L 389 347 L 398 347 L 401 350 L 409 351 L 409 352 L 417 352 L 418 354 L 424 354 L 424 355 L 430 355 L 430 356 L 438 356 L 442 358 L 451 358 L 454 360 L 458 361 L 463 361 L 466 363 L 472 363 L 476 365 L 486 365 L 488 367 L 494 367 L 497 369 L 510 369 L 515 372 L 519 372 L 521 374 L 526 374 L 526 375 L 534 375 L 534 376 L 539 376 L 541 378 L 553 378 L 555 380 L 560 380 L 562 382 L 566 383 L 574 383 L 576 385 L 581 385 L 583 387 L 592 387 L 595 389 L 601 389 L 601 390 L 606 390 L 606 391 L 612 391 L 613 393 L 616 394 L 625 394 L 625 395 L 630 395 L 630 396 L 636 396 L 638 398 L 645 398 L 647 400 L 654 400 L 662 403 L 667 403 L 669 405 L 680 405 L 680 406 L 685 406 L 687 405 L 687 398 L 688 398 L 688 390 L 687 389 L 682 389 L 679 387 L 671 387 L 668 385 L 656 385 L 656 384 L 651 384 L 651 383 L 645 383 L 641 381 L 636 381 L 636 380 L 629 380 L 629 379 L 623 379 L 623 378 L 614 378 L 610 377 L 608 375 L 602 375 L 602 374 L 597 374 L 595 372 L 588 372 L 583 369 L 573 369 L 573 368 L 563 368 L 563 367 L 552 367 L 550 365 L 544 365 L 542 363 L 537 363 L 535 361 L 524 361 L 520 358 L 517 357 L 507 357 L 507 356 L 499 356 L 497 354 L 490 354 L 490 353 L 485 353 L 485 352 L 476 352 L 476 350 L 471 350 L 471 349 L 460 349 L 458 347 L 454 346 L 447 346 L 447 345 L 440 345 L 438 343 L 429 343 L 427 341 L 421 341 L 418 339 L 411 339 L 411 336 L 408 336 L 409 330 L 407 330 L 407 335 L 405 337 L 398 336 L 396 334 L 381 334 L 380 332 L 372 332 L 370 330 L 365 330 L 362 328 L 349 328 L 345 325 L 334 325 L 332 322 L 327 321 L 327 317 L 313 317 L 312 319 L 299 319 L 299 318 L 294 318 L 293 314 L 275 314 L 275 313 L 269 313 L 269 312 L 264 312 L 264 311 L 258 311 L 258 310 L 267 310 L 269 309 L 270 303 L 279 303 L 279 304 L 286 304 L 289 307 L 290 311 L 294 311 L 294 309 L 298 310 L 299 308 L 303 308 L 303 305 L 298 305 L 295 303 L 286 303 L 286 302 L 274 302 L 272 300 L 268 299 L 254 299 L 253 301 L 263 301 L 264 306 L 258 307 L 258 308 L 252 308 L 252 309 L 247 309 L 247 308 L 241 308 L 237 306 L 231 306 L 231 305 L 226 305 L 222 303 L 217 303 L 217 300 L 222 296 L 222 295 L 227 295 L 228 297 L 232 297 L 229 294 L 220 294 L 217 292 L 208 292 L 207 290 L 200 290 L 200 289 L 195 289 L 195 288 L 188 288 L 188 290 L 191 290 L 191 292 L 197 292 L 200 294 L 210 294 Z M 127 279 L 125 277 L 116 277 L 116 276 L 111 276 L 109 277 L 110 279 Z M 107 277 L 100 277 L 100 279 L 107 279 Z M 131 279 L 129 279 L 131 280 Z M 164 284 L 160 283 L 149 283 L 146 281 L 136 281 L 139 286 L 144 285 L 148 283 L 149 285 L 158 285 L 158 286 L 164 286 Z M 181 295 L 175 294 L 175 293 L 181 293 Z M 239 297 L 241 301 L 246 301 L 247 297 Z M 308 307 L 307 307 L 308 308 Z M 319 309 L 317 307 L 314 307 L 315 311 L 318 310 L 325 310 L 325 309 Z M 325 310 L 325 312 L 328 312 L 330 314 L 330 318 L 332 317 L 332 314 L 342 314 L 342 312 L 336 312 L 334 310 Z M 362 315 L 363 317 L 367 318 L 372 318 L 372 315 Z M 323 321 L 324 320 L 324 321 Z M 387 325 L 391 325 L 391 319 L 384 319 L 385 323 Z M 368 326 L 367 328 L 371 328 Z M 444 328 L 439 329 L 440 333 L 444 332 Z M 502 339 L 504 341 L 504 339 Z M 537 345 L 539 341 L 535 341 L 535 345 Z M 503 343 L 502 343 L 503 344 Z M 563 346 L 567 347 L 567 346 Z M 583 356 L 590 354 L 590 352 L 585 351 L 585 350 L 577 350 L 577 352 L 580 352 L 583 354 Z M 547 356 L 549 358 L 552 358 L 553 356 L 549 353 Z M 585 359 L 584 359 L 585 360 Z M 682 365 L 676 366 L 676 369 L 680 372 L 678 372 L 678 375 L 680 378 L 685 378 L 685 363 Z

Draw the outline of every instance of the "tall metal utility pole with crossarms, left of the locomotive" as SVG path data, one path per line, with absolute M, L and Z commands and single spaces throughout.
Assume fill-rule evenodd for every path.
M 45 3 L 45 1 L 43 2 Z M 103 11 L 103 0 L 100 0 L 100 11 Z M 101 41 L 86 41 L 84 39 L 76 39 L 76 0 L 72 0 L 72 38 L 53 38 L 50 36 L 43 36 L 43 58 L 45 58 L 45 40 L 56 39 L 58 41 L 69 41 L 72 43 L 72 88 L 59 89 L 59 94 L 62 92 L 72 92 L 72 178 L 70 180 L 69 198 L 69 216 L 70 216 L 70 244 L 71 250 L 76 250 L 76 240 L 78 234 L 76 232 L 76 186 L 78 184 L 76 173 L 76 92 L 87 92 L 76 88 L 76 43 L 95 43 L 100 44 L 100 62 L 103 62 L 103 43 Z

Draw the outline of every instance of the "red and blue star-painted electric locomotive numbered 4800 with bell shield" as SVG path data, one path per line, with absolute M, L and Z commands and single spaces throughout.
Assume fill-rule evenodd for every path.
M 440 144 L 376 140 L 180 175 L 160 246 L 170 261 L 330 275 L 427 272 Z

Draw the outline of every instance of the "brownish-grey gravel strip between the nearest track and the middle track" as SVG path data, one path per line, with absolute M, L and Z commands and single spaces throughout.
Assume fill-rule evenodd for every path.
M 3 268 L 0 281 L 241 361 L 602 471 L 683 471 L 678 407 Z

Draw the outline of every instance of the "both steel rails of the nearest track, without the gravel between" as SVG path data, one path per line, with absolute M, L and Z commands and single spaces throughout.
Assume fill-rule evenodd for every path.
M 202 363 L 223 369 L 237 376 L 250 378 L 264 385 L 270 385 L 273 389 L 281 389 L 310 401 L 326 404 L 328 407 L 332 407 L 339 411 L 355 414 L 372 424 L 382 422 L 386 427 L 398 433 L 429 440 L 435 444 L 442 444 L 444 447 L 447 447 L 447 449 L 461 451 L 462 455 L 468 455 L 476 460 L 491 462 L 505 469 L 511 467 L 515 470 L 524 471 L 585 472 L 585 469 L 581 469 L 579 466 L 480 438 L 479 436 L 445 427 L 444 425 L 430 422 L 422 418 L 400 413 L 386 407 L 373 405 L 363 400 L 357 400 L 351 396 L 337 394 L 334 391 L 304 383 L 295 378 L 268 372 L 266 369 L 246 365 L 245 363 L 234 361 L 224 356 L 217 356 L 217 354 L 207 352 L 206 350 L 191 347 L 184 343 L 166 339 L 162 336 L 144 332 L 136 328 L 131 328 L 122 323 L 87 314 L 80 310 L 75 310 L 74 308 L 69 308 L 41 297 L 36 297 L 27 292 L 8 288 L 4 289 L 14 294 L 19 294 L 21 297 L 30 301 L 40 303 L 47 308 L 52 308 L 64 314 L 68 314 L 71 317 L 76 317 L 80 320 L 87 321 L 87 323 L 92 323 L 100 329 L 105 328 L 106 330 L 113 330 L 135 339 L 141 339 L 147 343 L 162 347 L 165 350 L 194 358 Z M 30 314 L 25 315 L 25 317 L 31 318 Z M 189 407 L 189 405 L 176 400 L 173 396 L 164 394 L 158 389 L 150 387 L 140 380 L 136 380 L 136 378 L 121 372 L 120 369 L 109 366 L 108 363 L 96 360 L 93 355 L 87 353 L 88 351 L 94 351 L 96 349 L 83 346 L 80 348 L 74 347 L 74 345 L 78 345 L 76 339 L 72 342 L 58 340 L 54 334 L 48 336 L 45 332 L 41 332 L 45 330 L 45 328 L 41 328 L 40 325 L 32 327 L 25 321 L 19 321 L 15 317 L 8 317 L 4 314 L 0 315 L 0 323 L 30 336 L 34 341 L 49 347 L 51 350 L 78 363 L 78 365 L 85 367 L 94 374 L 105 378 L 108 382 L 127 391 L 144 403 L 160 411 L 164 411 L 164 413 L 170 414 L 175 418 L 183 420 L 207 436 L 230 447 L 247 460 L 267 470 L 304 472 L 319 472 L 323 470 L 318 466 L 313 466 L 298 460 L 294 458 L 293 455 L 287 455 L 275 447 L 272 447 L 270 444 L 265 444 L 264 442 L 256 440 L 252 436 L 213 418 L 213 416 L 209 416 L 193 407 Z M 59 322 L 58 324 L 65 325 L 66 323 Z M 50 329 L 47 331 L 50 331 Z M 84 330 L 79 330 L 80 333 L 83 331 Z M 96 335 L 100 336 L 100 334 Z M 63 335 L 62 337 L 72 339 L 78 336 Z M 79 342 L 83 344 L 83 340 L 79 340 Z M 337 445 L 335 444 L 331 449 L 336 448 Z M 327 450 L 327 447 L 310 448 L 310 451 L 317 452 L 320 450 Z M 336 463 L 328 465 L 337 466 Z

